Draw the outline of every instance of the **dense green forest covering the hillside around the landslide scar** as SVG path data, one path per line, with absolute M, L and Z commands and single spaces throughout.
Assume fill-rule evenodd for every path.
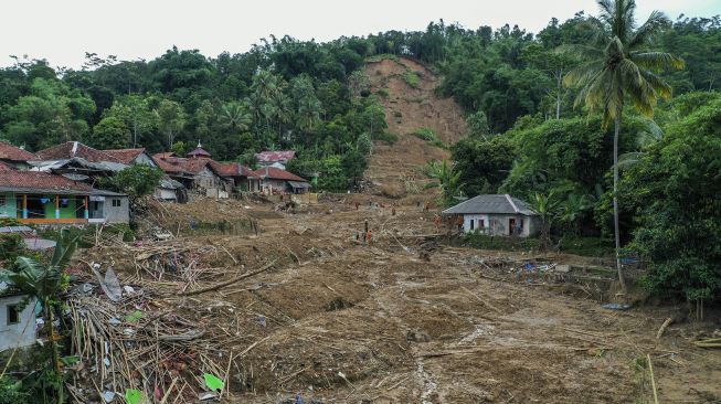
M 246 163 L 256 151 L 290 148 L 299 156 L 290 170 L 344 191 L 362 177 L 372 140 L 395 137 L 364 63 L 410 57 L 437 72 L 438 95 L 466 113 L 454 163 L 437 164 L 446 203 L 512 193 L 542 211 L 549 236 L 612 248 L 616 237 L 648 262 L 651 290 L 713 299 L 721 19 L 653 13 L 635 22 L 633 2 L 601 6 L 598 15 L 553 19 L 538 33 L 438 21 L 327 43 L 271 36 L 216 56 L 87 53 L 82 70 L 15 57 L 0 70 L 0 139 L 29 150 L 81 140 L 178 153 L 200 140 L 215 159 Z

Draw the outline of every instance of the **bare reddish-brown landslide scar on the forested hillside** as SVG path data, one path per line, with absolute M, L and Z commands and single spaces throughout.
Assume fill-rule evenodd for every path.
M 369 62 L 365 74 L 371 91 L 385 108 L 389 132 L 399 141 L 388 145 L 375 141 L 365 177 L 370 191 L 388 196 L 423 192 L 427 182 L 418 167 L 431 160 L 449 158 L 447 150 L 418 139 L 418 128 L 432 129 L 446 145 L 453 145 L 466 132 L 462 109 L 450 98 L 435 95 L 436 75 L 424 65 L 403 57 Z

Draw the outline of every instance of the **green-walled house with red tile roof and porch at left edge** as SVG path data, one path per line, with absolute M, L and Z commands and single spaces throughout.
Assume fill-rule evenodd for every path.
M 20 223 L 82 224 L 91 185 L 38 171 L 0 171 L 0 217 Z

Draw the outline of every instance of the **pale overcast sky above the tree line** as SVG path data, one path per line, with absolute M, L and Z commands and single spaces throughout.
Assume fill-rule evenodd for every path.
M 639 0 L 671 19 L 721 13 L 721 0 Z M 594 0 L 6 0 L 0 23 L 0 65 L 9 55 L 79 67 L 85 52 L 121 60 L 153 59 L 167 49 L 198 49 L 206 56 L 241 53 L 271 34 L 328 41 L 386 30 L 423 30 L 444 19 L 476 29 L 505 23 L 538 32 L 552 17 L 596 13 Z

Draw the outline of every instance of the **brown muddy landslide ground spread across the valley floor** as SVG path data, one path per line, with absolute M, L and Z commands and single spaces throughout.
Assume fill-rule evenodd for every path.
M 199 205 L 244 212 L 259 232 L 182 234 L 200 267 L 224 267 L 224 276 L 200 277 L 193 287 L 276 259 L 266 273 L 209 293 L 212 305 L 176 301 L 185 318 L 212 311 L 226 319 L 206 326 L 229 336 L 224 349 L 235 355 L 225 401 L 291 402 L 300 394 L 324 403 L 644 403 L 653 402 L 646 354 L 660 402 L 721 400 L 721 350 L 692 344 L 712 336 L 718 316 L 699 323 L 670 306 L 604 309 L 577 287 L 518 276 L 509 269 L 517 264 L 484 264 L 538 254 L 428 243 L 422 235 L 439 232 L 433 212 L 415 203 L 399 205 L 394 216 L 367 203 L 357 211 L 354 198 L 294 214 L 247 201 Z M 370 245 L 356 240 L 364 221 Z M 433 251 L 430 261 L 420 258 L 421 245 Z M 134 258 L 123 251 L 96 248 L 84 258 L 114 259 L 121 281 L 130 281 Z M 669 316 L 678 321 L 657 340 Z

